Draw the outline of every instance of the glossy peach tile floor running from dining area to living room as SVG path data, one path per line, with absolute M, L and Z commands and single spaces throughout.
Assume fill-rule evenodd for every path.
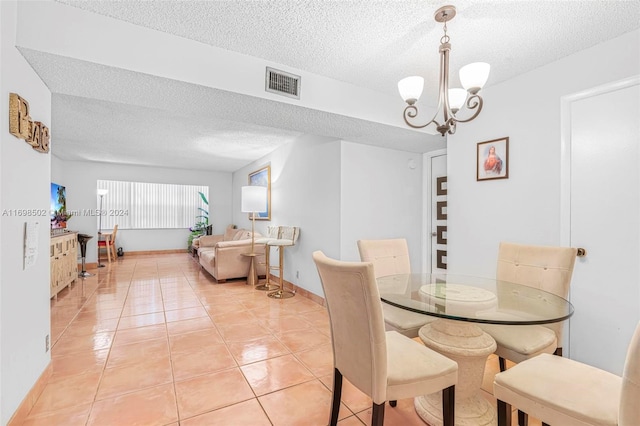
M 90 272 L 51 300 L 53 375 L 25 425 L 327 423 L 333 366 L 320 305 L 218 284 L 188 254 L 125 255 Z M 496 370 L 492 356 L 483 393 L 494 405 Z M 370 405 L 345 381 L 339 424 L 369 424 Z M 385 410 L 385 424 L 424 422 L 407 399 Z

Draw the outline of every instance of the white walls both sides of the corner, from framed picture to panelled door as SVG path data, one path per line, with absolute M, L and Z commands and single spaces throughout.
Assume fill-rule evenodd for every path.
M 408 168 L 409 159 L 415 160 L 416 169 Z M 311 254 L 322 250 L 336 259 L 358 260 L 360 238 L 406 237 L 416 253 L 420 251 L 419 154 L 320 137 L 287 144 L 234 173 L 233 217 L 238 227 L 251 227 L 248 215 L 240 212 L 240 188 L 250 172 L 267 164 L 271 221 L 256 221 L 256 231 L 264 234 L 269 225 L 300 227 L 297 245 L 285 249 L 285 280 L 323 297 Z M 412 258 L 416 268 L 419 258 Z

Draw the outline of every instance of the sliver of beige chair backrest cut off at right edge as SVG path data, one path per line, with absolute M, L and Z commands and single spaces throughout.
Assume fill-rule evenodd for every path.
M 622 390 L 618 424 L 637 425 L 640 422 L 640 323 L 633 333 L 622 372 Z

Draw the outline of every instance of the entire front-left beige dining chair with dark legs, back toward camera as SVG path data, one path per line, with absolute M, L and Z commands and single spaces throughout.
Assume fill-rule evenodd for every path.
M 338 422 L 343 376 L 373 401 L 372 425 L 384 406 L 442 391 L 443 423 L 453 425 L 458 364 L 395 331 L 386 331 L 370 262 L 342 262 L 313 253 L 324 290 L 333 344 L 330 425 Z

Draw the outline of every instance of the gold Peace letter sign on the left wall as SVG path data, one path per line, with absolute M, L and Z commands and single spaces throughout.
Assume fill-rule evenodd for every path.
M 9 133 L 23 139 L 38 152 L 49 152 L 49 128 L 29 116 L 29 102 L 9 93 Z

